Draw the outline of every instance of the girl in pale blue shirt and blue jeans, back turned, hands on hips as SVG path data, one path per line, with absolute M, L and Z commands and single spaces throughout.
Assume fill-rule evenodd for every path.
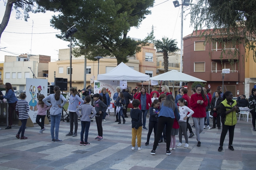
M 43 102 L 50 107 L 52 142 L 62 142 L 62 140 L 59 139 L 59 127 L 61 122 L 62 108 L 66 104 L 67 99 L 61 94 L 59 86 L 55 86 L 53 91 L 54 94 L 50 94 L 49 96 L 45 97 Z M 47 100 L 50 100 L 51 103 L 48 103 Z M 63 103 L 61 103 L 61 101 L 63 101 Z

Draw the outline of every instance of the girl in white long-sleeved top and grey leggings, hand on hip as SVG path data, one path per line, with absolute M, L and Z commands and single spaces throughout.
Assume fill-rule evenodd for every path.
M 179 144 L 177 145 L 177 147 L 182 146 L 182 133 L 183 133 L 185 142 L 186 142 L 184 148 L 188 148 L 189 147 L 189 138 L 188 138 L 188 134 L 187 134 L 187 119 L 192 114 L 194 114 L 194 111 L 187 107 L 188 102 L 184 98 L 179 98 L 178 104 L 179 104 L 179 112 L 180 112 L 180 120 L 179 120 L 180 127 L 179 127 Z M 190 112 L 190 113 L 188 114 L 188 112 Z

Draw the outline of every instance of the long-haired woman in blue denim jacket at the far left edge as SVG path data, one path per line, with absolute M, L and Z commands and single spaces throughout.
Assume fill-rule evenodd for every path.
M 5 98 L 8 102 L 8 126 L 5 129 L 11 129 L 12 128 L 12 114 L 16 109 L 17 104 L 17 97 L 15 96 L 15 93 L 12 89 L 11 83 L 7 82 L 4 85 L 5 90 L 5 96 L 1 95 L 1 97 Z M 19 116 L 19 111 L 15 111 L 17 116 Z

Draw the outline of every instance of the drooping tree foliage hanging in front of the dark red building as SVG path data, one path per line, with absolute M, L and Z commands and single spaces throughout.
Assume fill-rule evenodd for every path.
M 256 3 L 252 0 L 194 0 L 190 5 L 190 24 L 204 36 L 206 42 L 217 41 L 224 46 L 231 41 L 231 48 L 243 44 L 253 52 L 256 62 Z M 206 28 L 206 29 L 205 29 Z M 233 62 L 239 51 L 223 50 Z M 222 53 L 223 53 L 222 52 Z M 248 56 L 248 53 L 246 56 Z M 222 54 L 220 56 L 222 59 Z

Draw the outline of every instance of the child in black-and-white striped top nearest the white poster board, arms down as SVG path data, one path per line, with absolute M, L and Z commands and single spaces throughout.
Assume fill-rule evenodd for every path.
M 18 139 L 27 139 L 27 137 L 24 136 L 27 119 L 29 118 L 27 113 L 29 111 L 29 106 L 28 106 L 28 102 L 25 100 L 26 97 L 27 96 L 25 93 L 20 93 L 19 95 L 20 100 L 16 104 L 16 111 L 19 111 L 19 120 L 22 123 L 18 133 L 16 134 L 16 138 Z M 20 132 L 21 132 L 21 136 L 20 136 Z

